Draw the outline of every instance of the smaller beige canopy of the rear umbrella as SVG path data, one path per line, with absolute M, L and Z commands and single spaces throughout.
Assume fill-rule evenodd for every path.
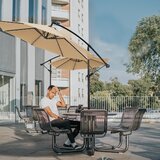
M 108 59 L 104 59 L 107 63 Z M 77 69 L 88 69 L 88 61 L 73 59 L 67 57 L 59 57 L 52 60 L 51 65 L 57 69 L 65 69 L 65 70 L 77 70 Z M 94 69 L 104 65 L 104 63 L 94 56 L 89 59 L 89 69 Z

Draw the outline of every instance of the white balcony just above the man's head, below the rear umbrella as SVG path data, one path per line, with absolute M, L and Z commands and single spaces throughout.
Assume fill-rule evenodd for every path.
M 52 78 L 52 84 L 57 87 L 69 87 L 68 78 Z

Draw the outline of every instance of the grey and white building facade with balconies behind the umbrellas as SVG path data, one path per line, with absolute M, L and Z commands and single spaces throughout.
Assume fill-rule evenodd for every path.
M 88 0 L 0 0 L 0 20 L 50 25 L 60 21 L 88 41 Z M 72 39 L 82 45 L 76 37 Z M 39 105 L 50 84 L 40 64 L 54 54 L 0 31 L 0 121 L 15 118 L 15 106 Z M 49 64 L 46 64 L 49 68 Z M 52 83 L 60 87 L 68 104 L 87 105 L 86 70 L 52 70 Z

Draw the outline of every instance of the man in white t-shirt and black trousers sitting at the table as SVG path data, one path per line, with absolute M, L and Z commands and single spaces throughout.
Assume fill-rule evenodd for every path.
M 59 96 L 59 101 L 54 98 L 56 93 Z M 59 116 L 57 107 L 66 107 L 66 104 L 59 89 L 56 86 L 50 85 L 48 87 L 47 95 L 41 99 L 40 107 L 43 108 L 45 112 L 49 115 L 52 126 L 63 129 L 69 129 L 71 131 L 70 133 L 68 133 L 68 140 L 64 143 L 64 146 L 73 147 L 76 149 L 78 145 L 75 142 L 75 137 L 79 133 L 80 122 L 62 119 Z M 73 132 L 71 129 L 72 125 L 76 126 L 74 127 L 75 129 Z

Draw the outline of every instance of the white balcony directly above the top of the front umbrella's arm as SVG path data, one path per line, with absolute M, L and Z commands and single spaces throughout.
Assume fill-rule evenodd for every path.
M 51 16 L 54 20 L 69 20 L 69 11 L 52 8 Z

